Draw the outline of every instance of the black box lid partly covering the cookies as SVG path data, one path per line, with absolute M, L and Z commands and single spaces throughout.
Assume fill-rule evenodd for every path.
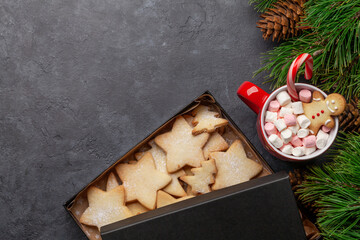
M 306 239 L 285 172 L 104 226 L 101 235 L 103 240 Z

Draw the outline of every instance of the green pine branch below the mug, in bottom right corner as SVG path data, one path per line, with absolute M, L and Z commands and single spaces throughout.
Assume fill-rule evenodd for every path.
M 332 162 L 309 168 L 297 190 L 299 199 L 318 208 L 325 239 L 360 239 L 360 135 L 344 134 L 330 154 Z

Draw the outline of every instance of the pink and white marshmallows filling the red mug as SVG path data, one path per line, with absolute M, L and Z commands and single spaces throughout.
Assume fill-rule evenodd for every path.
M 292 102 L 287 91 L 269 103 L 265 113 L 265 132 L 269 142 L 285 154 L 301 157 L 326 146 L 330 128 L 322 126 L 315 136 L 308 127 L 310 120 L 304 115 L 303 102 L 311 102 L 311 91 L 299 92 L 300 101 Z

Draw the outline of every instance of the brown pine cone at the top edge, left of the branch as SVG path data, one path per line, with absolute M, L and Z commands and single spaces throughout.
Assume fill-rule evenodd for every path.
M 297 36 L 300 30 L 297 24 L 304 15 L 304 3 L 306 0 L 281 0 L 276 2 L 265 13 L 261 14 L 263 18 L 257 22 L 258 28 L 263 32 L 263 38 L 272 40 L 276 38 L 287 39 Z

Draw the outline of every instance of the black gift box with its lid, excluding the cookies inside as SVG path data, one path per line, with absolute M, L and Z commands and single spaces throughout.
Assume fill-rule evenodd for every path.
M 146 150 L 155 136 L 169 131 L 174 119 L 189 114 L 199 104 L 210 106 L 229 121 L 219 129 L 229 145 L 239 139 L 248 158 L 263 166 L 254 179 L 151 210 L 101 228 L 81 224 L 88 207 L 87 189 L 105 189 L 115 166 Z M 115 161 L 64 204 L 90 239 L 306 239 L 287 174 L 273 174 L 249 140 L 234 124 L 210 92 L 205 92 Z

